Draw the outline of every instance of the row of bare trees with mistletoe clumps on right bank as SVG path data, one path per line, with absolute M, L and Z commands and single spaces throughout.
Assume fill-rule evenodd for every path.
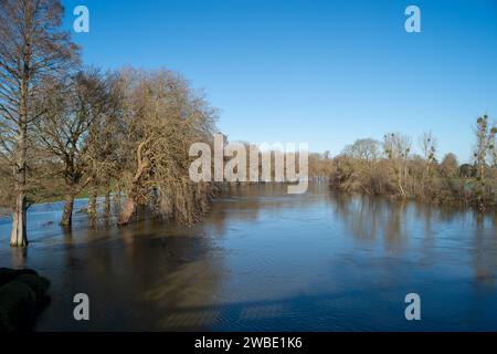
M 343 190 L 430 201 L 457 201 L 480 209 L 497 205 L 497 127 L 487 115 L 475 127 L 474 163 L 459 166 L 450 153 L 437 159 L 437 140 L 424 133 L 421 155 L 412 139 L 391 133 L 382 142 L 359 139 L 334 159 L 331 184 Z

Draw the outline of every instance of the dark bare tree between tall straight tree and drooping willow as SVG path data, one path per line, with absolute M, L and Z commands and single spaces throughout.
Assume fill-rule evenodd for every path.
M 96 70 L 77 72 L 68 82 L 49 84 L 43 100 L 45 114 L 35 124 L 40 145 L 60 162 L 55 176 L 64 180 L 64 212 L 61 225 L 72 226 L 74 198 L 92 181 L 86 176 L 88 149 L 97 136 L 94 126 L 108 111 L 108 87 Z

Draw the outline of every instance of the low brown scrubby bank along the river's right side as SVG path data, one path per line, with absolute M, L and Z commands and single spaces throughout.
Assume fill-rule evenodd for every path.
M 434 165 L 429 169 L 422 160 L 364 162 L 340 156 L 335 159 L 330 187 L 347 192 L 387 196 L 396 200 L 420 200 L 433 205 L 450 204 L 485 211 L 497 206 L 496 174 L 496 170 L 489 170 L 487 178 L 482 180 L 465 177 L 457 168 L 447 173 L 443 167 Z

